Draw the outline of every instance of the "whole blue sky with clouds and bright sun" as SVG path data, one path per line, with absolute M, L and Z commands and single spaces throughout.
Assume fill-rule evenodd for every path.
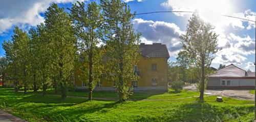
M 14 26 L 25 31 L 44 22 L 44 12 L 52 3 L 70 8 L 77 0 L 2 0 L 0 1 L 0 42 L 11 40 Z M 84 1 L 84 0 L 78 0 Z M 91 0 L 92 1 L 92 0 Z M 84 2 L 91 2 L 85 0 Z M 95 2 L 99 2 L 95 0 Z M 236 16 L 255 21 L 255 0 L 123 0 L 132 12 L 153 11 L 198 11 L 200 17 L 215 26 L 218 48 L 222 48 L 212 60 L 212 67 L 220 64 L 234 64 L 244 70 L 254 71 L 255 24 L 222 15 Z M 68 11 L 68 10 L 67 10 Z M 142 43 L 166 44 L 169 61 L 175 62 L 182 50 L 180 35 L 186 32 L 191 13 L 157 13 L 137 15 L 133 20 L 134 29 L 142 34 Z M 0 56 L 5 51 L 0 47 Z

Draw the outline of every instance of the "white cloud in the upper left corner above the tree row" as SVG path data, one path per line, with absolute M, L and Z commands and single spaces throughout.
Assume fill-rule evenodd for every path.
M 83 0 L 79 0 L 80 2 Z M 13 25 L 35 26 L 44 22 L 44 13 L 51 3 L 69 3 L 76 0 L 3 0 L 0 4 L 0 35 L 10 29 Z

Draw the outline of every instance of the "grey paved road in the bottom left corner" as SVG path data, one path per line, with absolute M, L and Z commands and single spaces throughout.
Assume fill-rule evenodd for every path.
M 6 113 L 6 112 L 3 112 L 2 110 L 0 110 L 0 122 L 13 122 L 13 121 L 16 121 L 16 122 L 27 122 L 23 119 L 20 119 L 16 116 L 13 116 L 9 113 Z

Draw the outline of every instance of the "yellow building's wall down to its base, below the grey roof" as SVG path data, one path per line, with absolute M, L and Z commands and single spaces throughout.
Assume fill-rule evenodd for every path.
M 157 65 L 156 71 L 152 71 L 152 64 Z M 139 55 L 137 64 L 139 70 L 138 86 L 134 90 L 166 90 L 167 87 L 167 58 L 166 57 L 143 57 Z M 86 89 L 82 87 L 79 71 L 75 73 L 75 86 L 77 89 Z M 156 79 L 157 85 L 152 86 L 152 79 Z M 96 87 L 95 90 L 115 90 L 114 81 L 101 81 L 101 87 Z

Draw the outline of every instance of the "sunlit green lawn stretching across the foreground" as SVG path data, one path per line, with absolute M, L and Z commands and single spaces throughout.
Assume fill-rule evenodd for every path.
M 49 91 L 50 92 L 50 91 Z M 84 94 L 85 93 L 85 94 Z M 71 92 L 69 96 L 87 97 L 86 92 Z M 206 96 L 199 103 L 198 92 L 182 90 L 175 93 L 135 93 L 135 101 L 94 100 L 60 96 L 41 96 L 38 93 L 14 93 L 13 88 L 0 88 L 0 109 L 28 121 L 252 121 L 254 101 Z M 112 98 L 116 93 L 94 94 L 94 97 Z

